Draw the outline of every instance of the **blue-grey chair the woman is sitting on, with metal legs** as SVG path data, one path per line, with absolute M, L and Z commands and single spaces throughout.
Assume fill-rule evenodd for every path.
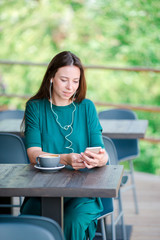
M 109 162 L 112 165 L 118 164 L 117 152 L 112 140 L 108 137 L 103 137 L 103 142 L 105 146 L 105 150 L 109 155 Z M 101 198 L 103 204 L 103 212 L 101 216 L 98 218 L 101 225 L 101 232 L 102 232 L 102 239 L 106 240 L 106 217 L 111 216 L 111 228 L 112 228 L 112 239 L 116 240 L 116 225 L 117 223 L 121 222 L 123 239 L 126 240 L 126 229 L 124 224 L 124 216 L 123 216 L 123 208 L 122 208 L 122 200 L 121 200 L 121 191 L 119 190 L 118 197 L 118 215 L 115 216 L 114 213 L 114 201 L 115 199 L 112 198 Z

